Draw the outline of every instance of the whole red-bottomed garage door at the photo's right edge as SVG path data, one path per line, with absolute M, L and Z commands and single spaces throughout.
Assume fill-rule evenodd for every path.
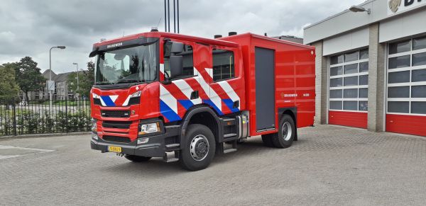
M 426 136 L 426 37 L 388 44 L 386 131 Z

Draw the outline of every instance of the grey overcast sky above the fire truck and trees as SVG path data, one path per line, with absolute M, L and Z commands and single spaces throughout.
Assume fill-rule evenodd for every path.
M 302 37 L 306 25 L 363 1 L 180 0 L 180 33 L 206 38 L 229 31 Z M 163 31 L 163 18 L 163 0 L 1 0 L 0 64 L 30 56 L 44 71 L 50 47 L 65 45 L 66 50 L 52 52 L 53 71 L 75 71 L 72 62 L 85 68 L 94 42 L 146 32 L 158 21 Z

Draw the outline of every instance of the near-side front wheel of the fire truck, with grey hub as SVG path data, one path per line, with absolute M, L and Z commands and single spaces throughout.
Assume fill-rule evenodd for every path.
M 189 125 L 185 136 L 185 147 L 182 148 L 180 151 L 180 165 L 182 168 L 189 171 L 199 171 L 207 168 L 212 162 L 216 151 L 213 132 L 204 125 Z

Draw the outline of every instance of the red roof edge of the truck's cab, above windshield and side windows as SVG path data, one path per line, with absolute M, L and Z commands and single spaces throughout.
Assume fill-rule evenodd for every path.
M 209 38 L 200 38 L 200 37 L 195 37 L 195 36 L 191 36 L 191 35 L 182 35 L 182 34 L 178 34 L 178 33 L 165 33 L 165 32 L 148 32 L 148 33 L 138 33 L 138 34 L 134 34 L 134 35 L 127 35 L 121 38 L 114 38 L 111 40 L 104 40 L 102 42 L 97 42 L 94 43 L 93 47 L 99 47 L 102 45 L 110 45 L 116 42 L 123 42 L 126 40 L 133 40 L 139 37 L 163 37 L 163 38 L 175 38 L 175 39 L 181 39 L 181 40 L 189 40 L 189 41 L 193 41 L 193 42 L 200 42 L 200 43 L 204 43 L 207 45 L 222 45 L 222 46 L 226 46 L 226 47 L 238 47 L 239 45 L 235 42 L 229 42 L 226 40 L 218 40 L 218 39 L 209 39 Z

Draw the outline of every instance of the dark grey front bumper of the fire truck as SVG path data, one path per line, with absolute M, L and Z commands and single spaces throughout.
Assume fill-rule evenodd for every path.
M 180 134 L 180 126 L 165 126 L 165 132 L 161 135 L 154 135 L 149 137 L 139 137 L 138 139 L 146 138 L 148 142 L 138 144 L 138 139 L 135 139 L 130 143 L 121 142 L 109 142 L 100 137 L 97 139 L 92 138 L 90 141 L 90 147 L 92 149 L 107 152 L 108 146 L 121 147 L 121 153 L 130 154 L 136 156 L 151 156 L 151 157 L 163 157 L 166 151 L 173 151 L 180 149 L 178 137 Z M 169 147 L 173 145 L 174 147 Z M 166 147 L 167 146 L 167 147 Z M 177 146 L 177 147 L 176 147 Z

